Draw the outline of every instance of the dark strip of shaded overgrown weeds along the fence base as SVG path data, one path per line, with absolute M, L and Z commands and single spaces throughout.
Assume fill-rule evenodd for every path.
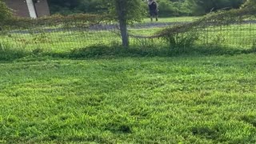
M 130 47 L 122 46 L 90 46 L 81 49 L 74 49 L 62 53 L 47 51 L 44 49 L 20 50 L 0 47 L 0 61 L 10 62 L 20 58 L 68 58 L 68 59 L 88 59 L 88 58 L 126 58 L 126 57 L 176 57 L 176 56 L 208 56 L 208 55 L 234 55 L 251 54 L 256 49 L 231 49 L 226 47 L 205 48 L 202 46 L 187 48 L 170 47 Z

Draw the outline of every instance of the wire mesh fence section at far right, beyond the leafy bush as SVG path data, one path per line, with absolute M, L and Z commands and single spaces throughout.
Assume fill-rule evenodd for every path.
M 222 46 L 234 49 L 249 49 L 254 46 L 256 23 L 234 23 L 229 26 L 208 26 L 200 32 L 198 42 L 206 47 Z

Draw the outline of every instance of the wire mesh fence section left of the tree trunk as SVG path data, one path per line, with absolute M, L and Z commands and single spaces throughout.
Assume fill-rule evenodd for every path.
M 70 50 L 92 45 L 112 45 L 119 42 L 114 30 L 90 30 L 82 27 L 38 28 L 31 30 L 8 30 L 1 34 L 2 46 L 33 50 Z

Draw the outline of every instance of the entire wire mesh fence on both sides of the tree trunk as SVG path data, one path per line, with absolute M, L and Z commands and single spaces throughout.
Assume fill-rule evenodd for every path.
M 170 22 L 142 22 L 129 27 L 130 46 L 170 46 L 166 39 L 150 37 L 165 27 L 178 26 L 193 22 L 194 19 L 179 19 Z M 226 26 L 209 26 L 194 29 L 197 35 L 195 46 L 223 46 L 234 49 L 250 49 L 256 42 L 256 21 L 254 19 L 233 23 Z M 187 33 L 177 34 L 176 41 L 188 36 Z M 25 50 L 66 51 L 94 45 L 121 45 L 118 24 L 102 22 L 94 26 L 38 26 L 28 29 L 8 29 L 0 31 L 0 46 L 14 47 Z M 186 39 L 185 39 L 186 40 Z M 182 46 L 182 45 L 180 45 Z M 185 45 L 184 45 L 185 46 Z

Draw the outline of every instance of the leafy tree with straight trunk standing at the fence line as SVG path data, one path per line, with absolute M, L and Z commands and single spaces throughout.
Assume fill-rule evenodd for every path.
M 110 14 L 114 16 L 114 20 L 119 22 L 122 46 L 128 47 L 127 25 L 143 18 L 145 9 L 142 6 L 142 0 L 111 0 L 108 5 L 110 6 Z

